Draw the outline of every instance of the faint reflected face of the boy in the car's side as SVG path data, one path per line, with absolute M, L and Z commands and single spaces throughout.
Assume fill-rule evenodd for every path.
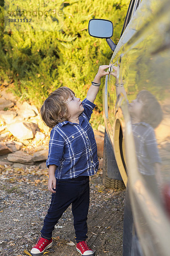
M 141 112 L 142 112 L 142 100 L 139 99 L 138 97 L 136 99 L 134 99 L 130 104 L 129 104 L 129 112 L 130 112 L 130 116 L 136 119 L 141 118 Z

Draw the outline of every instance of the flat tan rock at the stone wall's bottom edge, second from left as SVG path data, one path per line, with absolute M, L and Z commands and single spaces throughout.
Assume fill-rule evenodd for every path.
M 22 150 L 8 154 L 7 159 L 15 163 L 34 164 L 33 157 Z

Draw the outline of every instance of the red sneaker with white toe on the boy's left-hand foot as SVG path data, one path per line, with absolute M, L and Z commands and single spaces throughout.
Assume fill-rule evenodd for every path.
M 45 250 L 47 250 L 49 247 L 51 247 L 53 244 L 53 239 L 50 240 L 44 239 L 40 237 L 37 241 L 37 244 L 32 248 L 31 255 L 32 256 L 40 256 L 42 255 Z

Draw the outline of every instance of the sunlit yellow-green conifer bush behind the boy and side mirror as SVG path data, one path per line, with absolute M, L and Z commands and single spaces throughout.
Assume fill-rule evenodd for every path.
M 38 2 L 34 0 L 35 4 Z M 59 3 L 62 17 L 58 17 L 52 31 L 34 27 L 13 32 L 4 31 L 3 26 L 0 28 L 1 80 L 6 81 L 20 99 L 32 102 L 38 108 L 48 94 L 60 86 L 70 87 L 81 100 L 85 98 L 99 65 L 109 64 L 112 55 L 105 39 L 92 38 L 88 34 L 88 21 L 91 18 L 111 20 L 114 26 L 112 40 L 117 44 L 129 0 L 68 0 Z M 0 23 L 3 24 L 4 8 L 0 8 Z M 46 21 L 43 22 L 41 27 L 46 26 Z M 101 87 L 104 81 L 102 78 Z M 92 123 L 97 127 L 103 122 L 102 88 L 95 104 L 97 108 Z

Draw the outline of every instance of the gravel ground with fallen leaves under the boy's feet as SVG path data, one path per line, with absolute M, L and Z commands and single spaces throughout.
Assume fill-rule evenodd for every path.
M 51 201 L 47 170 L 0 166 L 0 255 L 26 256 L 40 236 Z M 88 244 L 95 256 L 121 256 L 125 190 L 102 185 L 102 170 L 90 178 Z M 75 250 L 73 216 L 69 207 L 53 232 L 46 256 L 79 256 Z

